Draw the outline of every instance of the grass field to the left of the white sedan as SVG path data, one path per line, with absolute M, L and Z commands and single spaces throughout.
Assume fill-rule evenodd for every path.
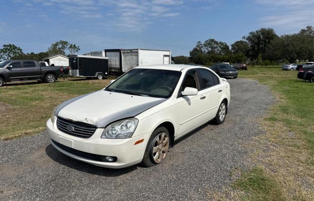
M 75 96 L 103 89 L 110 79 L 59 79 L 55 83 L 9 83 L 0 88 L 0 138 L 38 134 L 55 106 Z

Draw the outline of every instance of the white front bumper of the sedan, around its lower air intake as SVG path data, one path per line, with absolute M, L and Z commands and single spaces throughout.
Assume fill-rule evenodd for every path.
M 52 124 L 50 119 L 47 121 L 48 135 L 55 142 L 85 153 L 102 156 L 115 156 L 117 157 L 117 161 L 101 162 L 77 156 L 61 149 L 53 143 L 53 141 L 51 141 L 53 147 L 67 156 L 96 166 L 107 168 L 124 168 L 138 164 L 142 161 L 150 133 L 126 139 L 105 139 L 101 138 L 103 131 L 104 129 L 98 128 L 90 138 L 80 138 L 60 132 L 57 129 L 55 122 Z M 134 143 L 140 139 L 144 139 L 144 141 L 134 145 Z

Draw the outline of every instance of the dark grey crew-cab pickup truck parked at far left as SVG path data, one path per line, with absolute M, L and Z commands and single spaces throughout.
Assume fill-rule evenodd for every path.
M 52 83 L 61 75 L 63 67 L 43 67 L 34 60 L 5 61 L 0 64 L 0 87 L 12 81 L 41 80 Z

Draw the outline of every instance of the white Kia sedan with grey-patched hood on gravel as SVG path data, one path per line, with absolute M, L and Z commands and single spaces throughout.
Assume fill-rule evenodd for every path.
M 210 120 L 223 123 L 229 103 L 229 83 L 207 67 L 142 66 L 57 106 L 47 131 L 58 151 L 78 160 L 149 167 L 183 135 Z

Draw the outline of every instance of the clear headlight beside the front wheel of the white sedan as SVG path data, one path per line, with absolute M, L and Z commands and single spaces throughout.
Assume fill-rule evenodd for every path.
M 109 124 L 102 134 L 102 138 L 130 138 L 135 131 L 138 120 L 136 118 L 123 119 Z

